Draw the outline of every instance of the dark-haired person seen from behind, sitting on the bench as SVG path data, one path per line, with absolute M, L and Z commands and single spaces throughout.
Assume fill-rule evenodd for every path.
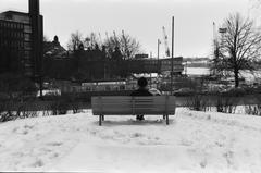
M 138 89 L 137 90 L 134 90 L 130 96 L 153 96 L 151 92 L 149 92 L 148 88 L 147 88 L 147 85 L 148 85 L 148 81 L 145 78 L 145 77 L 140 77 L 138 79 Z M 137 115 L 136 116 L 137 120 L 141 121 L 141 120 L 145 120 L 144 119 L 144 115 Z

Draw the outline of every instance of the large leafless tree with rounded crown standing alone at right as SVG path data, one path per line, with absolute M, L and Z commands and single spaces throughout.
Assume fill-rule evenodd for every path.
M 227 17 L 222 27 L 225 32 L 219 38 L 220 51 L 214 69 L 232 72 L 235 87 L 238 87 L 240 72 L 254 70 L 252 62 L 261 55 L 261 33 L 253 21 L 239 13 Z

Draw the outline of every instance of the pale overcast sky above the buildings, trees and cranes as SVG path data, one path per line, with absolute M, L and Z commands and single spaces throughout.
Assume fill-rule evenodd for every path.
M 28 0 L 0 0 L 0 12 L 27 12 Z M 163 39 L 165 26 L 171 48 L 171 20 L 175 16 L 175 55 L 208 57 L 211 54 L 213 25 L 231 13 L 257 17 L 254 0 L 40 0 L 45 17 L 45 35 L 58 35 L 66 48 L 71 33 L 84 36 L 100 33 L 105 38 L 122 30 L 137 38 L 146 53 L 157 55 L 157 39 Z M 164 45 L 160 54 L 164 54 Z

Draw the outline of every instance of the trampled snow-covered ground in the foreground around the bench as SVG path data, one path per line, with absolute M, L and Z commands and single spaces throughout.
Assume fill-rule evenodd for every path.
M 0 124 L 1 171 L 261 172 L 261 118 L 177 109 L 161 116 L 82 114 Z

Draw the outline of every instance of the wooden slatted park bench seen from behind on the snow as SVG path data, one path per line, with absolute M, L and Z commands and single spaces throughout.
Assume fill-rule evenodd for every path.
M 99 125 L 104 115 L 163 115 L 169 125 L 169 115 L 175 114 L 174 96 L 97 96 L 91 97 L 92 114 L 99 115 Z

